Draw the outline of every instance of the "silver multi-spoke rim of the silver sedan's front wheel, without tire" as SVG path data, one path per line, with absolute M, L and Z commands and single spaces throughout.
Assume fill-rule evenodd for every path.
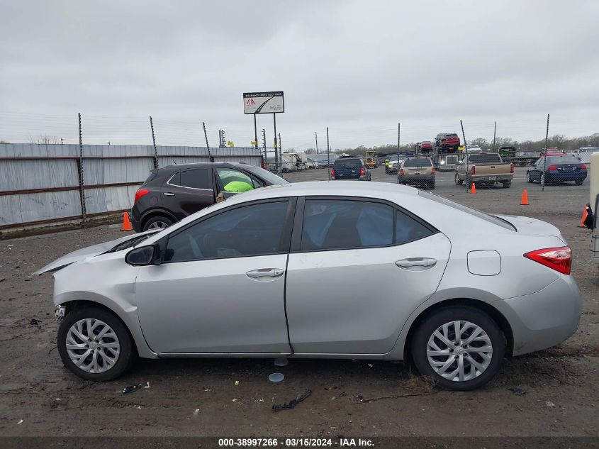
M 95 318 L 74 323 L 67 332 L 67 354 L 76 367 L 91 373 L 106 372 L 115 365 L 121 351 L 115 331 Z

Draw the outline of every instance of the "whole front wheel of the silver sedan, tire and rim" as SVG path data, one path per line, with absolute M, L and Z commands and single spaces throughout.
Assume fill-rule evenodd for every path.
M 135 360 L 133 341 L 123 322 L 97 307 L 67 314 L 58 328 L 57 345 L 65 367 L 88 380 L 116 379 Z

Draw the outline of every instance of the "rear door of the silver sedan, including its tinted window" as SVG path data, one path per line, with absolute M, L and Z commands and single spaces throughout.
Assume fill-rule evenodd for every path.
M 294 251 L 295 228 L 286 286 L 296 353 L 387 353 L 408 316 L 435 292 L 449 260 L 449 239 L 418 218 L 349 202 L 353 211 L 337 200 L 306 199 L 298 217 L 301 245 Z M 394 220 L 398 244 L 387 235 Z

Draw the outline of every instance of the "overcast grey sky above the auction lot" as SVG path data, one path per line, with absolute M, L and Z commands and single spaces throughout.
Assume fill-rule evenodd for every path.
M 253 140 L 242 92 L 282 90 L 284 148 L 599 132 L 599 1 L 0 0 L 0 140 Z M 258 117 L 272 143 L 272 116 Z

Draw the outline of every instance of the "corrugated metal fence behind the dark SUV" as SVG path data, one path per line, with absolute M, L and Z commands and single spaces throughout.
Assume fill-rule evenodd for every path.
M 255 148 L 210 148 L 213 162 L 260 165 Z M 86 223 L 130 209 L 150 170 L 210 162 L 208 148 L 0 144 L 0 233 Z

